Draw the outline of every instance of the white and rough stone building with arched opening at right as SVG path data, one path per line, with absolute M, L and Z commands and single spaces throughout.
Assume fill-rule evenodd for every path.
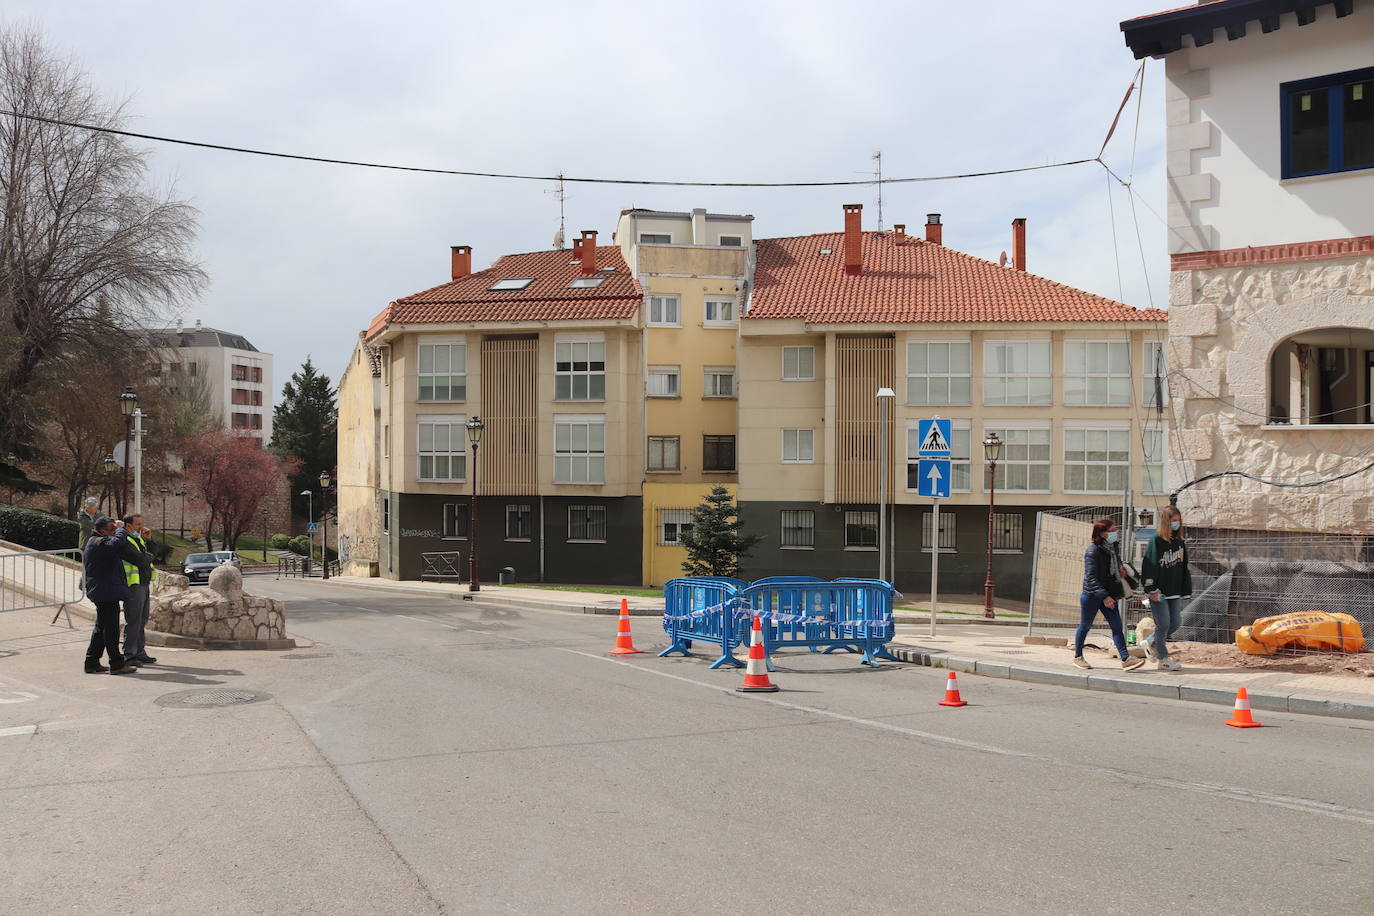
M 1169 488 L 1249 475 L 1179 507 L 1374 531 L 1374 8 L 1215 0 L 1121 30 L 1164 59 Z

